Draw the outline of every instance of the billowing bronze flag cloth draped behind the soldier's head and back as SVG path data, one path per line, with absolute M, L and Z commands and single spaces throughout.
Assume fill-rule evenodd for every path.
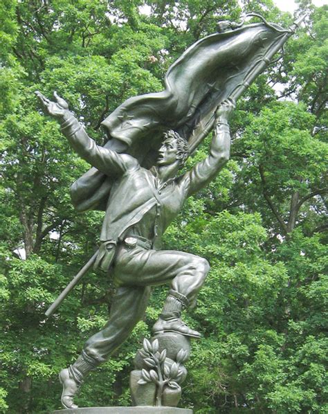
M 285 33 L 280 26 L 259 23 L 200 39 L 170 66 L 164 91 L 129 98 L 102 122 L 109 138 L 104 147 L 116 138 L 150 168 L 163 132 L 174 129 L 192 140 L 197 127 L 204 129 L 204 118 L 244 84 Z M 91 168 L 71 186 L 75 208 L 105 210 L 111 184 L 112 177 Z

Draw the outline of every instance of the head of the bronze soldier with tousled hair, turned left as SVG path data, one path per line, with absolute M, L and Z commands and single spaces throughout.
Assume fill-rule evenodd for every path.
M 158 165 L 170 165 L 178 161 L 179 167 L 182 167 L 189 156 L 188 142 L 172 129 L 165 132 L 163 138 L 158 150 Z

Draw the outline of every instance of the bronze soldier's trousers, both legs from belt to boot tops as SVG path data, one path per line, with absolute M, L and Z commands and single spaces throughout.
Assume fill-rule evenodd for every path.
M 84 345 L 84 352 L 105 361 L 129 336 L 147 307 L 150 286 L 171 283 L 171 289 L 195 300 L 210 266 L 197 255 L 170 250 L 145 250 L 120 246 L 111 276 L 118 288 L 109 321 Z

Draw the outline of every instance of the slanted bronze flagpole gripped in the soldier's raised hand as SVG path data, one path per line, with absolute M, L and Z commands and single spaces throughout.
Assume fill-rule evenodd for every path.
M 260 60 L 253 67 L 253 69 L 251 69 L 250 72 L 248 72 L 244 82 L 242 84 L 239 84 L 234 89 L 234 91 L 230 93 L 230 96 L 227 96 L 227 98 L 232 98 L 233 100 L 236 101 L 237 98 L 239 98 L 239 96 L 241 96 L 242 93 L 244 93 L 244 91 L 250 86 L 253 80 L 257 78 L 259 73 L 264 71 L 266 66 L 268 66 L 268 64 L 271 62 L 271 59 L 275 55 L 275 53 L 277 53 L 277 51 L 279 51 L 280 48 L 282 48 L 286 40 L 289 39 L 289 37 L 291 37 L 291 35 L 295 33 L 295 30 L 300 26 L 300 24 L 302 23 L 305 17 L 306 15 L 303 15 L 298 20 L 294 21 L 294 23 L 286 30 L 286 33 L 273 45 L 273 47 L 271 47 L 271 49 L 268 50 L 268 52 L 266 53 L 266 55 L 264 55 L 262 60 Z M 192 136 L 189 141 L 190 153 L 192 153 L 198 147 L 199 143 L 203 141 L 203 138 L 205 138 L 209 134 L 209 132 L 212 130 L 214 123 L 215 123 L 214 112 L 211 112 L 210 114 L 208 114 L 208 120 L 205 119 L 201 121 L 201 123 L 199 123 L 199 126 L 201 126 L 201 131 L 199 132 L 199 134 L 194 134 L 193 132 L 194 136 Z

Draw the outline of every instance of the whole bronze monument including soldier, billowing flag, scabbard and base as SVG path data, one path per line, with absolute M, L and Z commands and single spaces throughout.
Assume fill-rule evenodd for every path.
M 179 337 L 200 337 L 199 332 L 183 323 L 181 312 L 196 300 L 210 266 L 206 259 L 197 255 L 161 250 L 161 236 L 181 210 L 185 199 L 214 179 L 228 161 L 228 117 L 235 107 L 235 100 L 263 71 L 296 26 L 285 30 L 266 21 L 248 26 L 219 24 L 220 33 L 190 46 L 170 67 L 163 92 L 129 98 L 104 120 L 102 124 L 108 141 L 103 147 L 89 138 L 84 127 L 69 111 L 67 102 L 57 93 L 54 93 L 55 100 L 51 101 L 37 92 L 46 114 L 60 122 L 62 133 L 73 149 L 92 166 L 71 188 L 75 208 L 105 211 L 98 253 L 47 314 L 55 311 L 92 264 L 106 271 L 117 287 L 107 325 L 86 341 L 75 363 L 60 372 L 62 404 L 71 409 L 71 413 L 98 410 L 78 410 L 73 397 L 82 379 L 106 361 L 143 318 L 150 286 L 170 285 L 163 311 L 153 327 L 155 337 L 166 336 L 165 340 L 170 343 L 172 338 L 169 340 L 168 336 L 175 335 L 176 343 L 172 342 L 172 349 L 181 343 Z M 213 138 L 206 159 L 190 171 L 179 174 L 179 168 L 190 152 L 212 129 Z M 181 349 L 183 351 L 183 347 Z M 158 362 L 160 357 L 155 350 L 144 351 L 146 354 L 149 351 L 145 361 L 148 359 L 149 364 Z M 169 349 L 167 352 L 173 351 Z M 175 366 L 174 372 L 170 372 L 173 363 L 179 365 L 184 361 L 182 353 L 177 350 L 171 362 L 167 359 L 171 364 L 166 368 L 167 374 L 164 365 L 163 372 L 158 368 L 156 375 L 163 376 L 164 382 L 170 375 L 172 381 L 179 375 L 183 376 L 182 365 L 179 375 Z M 139 368 L 131 376 L 135 392 L 138 386 L 151 383 L 143 370 Z M 150 375 L 155 378 L 154 374 Z M 160 386 L 161 381 L 156 379 L 156 382 L 155 379 L 154 384 Z M 151 397 L 153 404 L 160 406 L 163 398 L 176 401 L 171 405 L 177 404 L 179 396 L 171 391 L 174 387 L 178 389 L 179 384 L 172 381 L 171 384 L 176 385 L 167 389 L 169 397 L 162 393 L 159 398 L 157 388 L 149 391 L 149 395 L 155 393 L 154 398 Z M 147 404 L 146 399 L 143 404 Z M 138 404 L 136 393 L 134 402 Z M 136 411 L 136 408 L 132 409 Z M 145 409 L 143 407 L 143 413 L 148 412 Z M 176 408 L 167 408 L 173 411 L 152 409 L 149 412 L 176 412 Z M 110 408 L 101 410 L 102 413 L 126 412 L 110 411 Z

